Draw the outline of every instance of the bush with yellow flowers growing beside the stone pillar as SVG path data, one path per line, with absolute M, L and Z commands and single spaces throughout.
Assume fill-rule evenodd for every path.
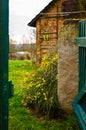
M 57 59 L 57 54 L 47 54 L 36 71 L 26 74 L 24 84 L 26 94 L 23 103 L 48 116 L 51 113 L 53 116 L 58 109 Z

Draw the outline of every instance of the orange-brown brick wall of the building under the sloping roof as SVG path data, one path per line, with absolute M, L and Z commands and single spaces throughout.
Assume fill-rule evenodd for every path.
M 57 44 L 57 18 L 54 14 L 57 12 L 57 3 L 49 8 L 36 23 L 36 59 L 37 65 L 40 64 L 42 57 Z M 44 37 L 48 37 L 48 40 Z

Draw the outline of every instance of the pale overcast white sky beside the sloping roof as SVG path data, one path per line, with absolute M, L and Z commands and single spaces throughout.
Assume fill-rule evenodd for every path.
M 9 0 L 9 35 L 18 43 L 23 36 L 30 37 L 31 27 L 27 24 L 51 0 Z

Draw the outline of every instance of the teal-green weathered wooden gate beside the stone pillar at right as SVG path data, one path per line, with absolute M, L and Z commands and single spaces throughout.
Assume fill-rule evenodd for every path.
M 77 115 L 80 129 L 86 130 L 86 20 L 79 22 L 79 92 L 73 101 L 73 108 Z

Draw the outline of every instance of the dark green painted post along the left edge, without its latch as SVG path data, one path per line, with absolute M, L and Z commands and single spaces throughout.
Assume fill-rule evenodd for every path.
M 8 130 L 8 0 L 0 0 L 0 130 Z

